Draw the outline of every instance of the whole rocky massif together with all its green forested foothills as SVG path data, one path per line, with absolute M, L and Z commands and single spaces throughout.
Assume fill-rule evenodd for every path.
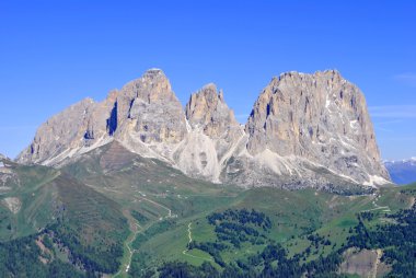
M 215 84 L 183 108 L 150 69 L 1 157 L 0 270 L 31 277 L 22 256 L 38 277 L 413 275 L 415 185 L 391 183 L 373 132 L 336 70 L 273 78 L 243 126 Z

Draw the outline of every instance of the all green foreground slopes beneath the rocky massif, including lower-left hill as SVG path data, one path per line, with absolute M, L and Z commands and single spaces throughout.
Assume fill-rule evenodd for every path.
M 382 259 L 386 247 L 360 251 L 354 236 L 362 225 L 375 233 L 397 224 L 416 192 L 244 190 L 189 178 L 117 142 L 59 171 L 13 164 L 13 172 L 19 183 L 1 195 L 2 240 L 42 243 L 47 266 L 116 277 L 355 275 L 360 256 L 377 266 L 362 271 L 386 274 L 397 268 Z

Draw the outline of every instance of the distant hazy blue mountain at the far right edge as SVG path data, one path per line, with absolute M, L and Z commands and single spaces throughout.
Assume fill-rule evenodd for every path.
M 416 182 L 416 158 L 402 161 L 385 161 L 384 165 L 395 184 L 404 185 Z

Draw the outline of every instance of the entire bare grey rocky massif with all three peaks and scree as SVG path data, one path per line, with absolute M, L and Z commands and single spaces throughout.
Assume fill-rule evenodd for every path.
M 18 162 L 60 167 L 111 141 L 215 183 L 390 183 L 365 97 L 337 71 L 274 78 L 242 126 L 215 84 L 192 94 L 183 108 L 164 73 L 151 69 L 103 102 L 85 99 L 48 119 Z

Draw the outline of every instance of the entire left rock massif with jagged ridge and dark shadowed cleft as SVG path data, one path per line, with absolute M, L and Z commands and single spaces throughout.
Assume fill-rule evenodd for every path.
M 186 132 L 185 113 L 169 80 L 161 70 L 151 69 L 109 92 L 103 102 L 85 99 L 53 116 L 18 161 L 59 165 L 114 139 L 126 144 L 131 137 L 140 143 L 177 143 Z

